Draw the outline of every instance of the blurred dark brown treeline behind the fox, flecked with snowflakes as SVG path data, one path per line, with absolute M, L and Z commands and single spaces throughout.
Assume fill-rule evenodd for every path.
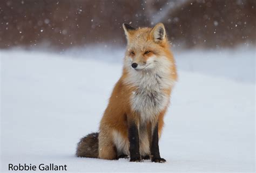
M 255 0 L 1 0 L 0 48 L 125 45 L 122 23 L 162 22 L 173 46 L 255 45 Z

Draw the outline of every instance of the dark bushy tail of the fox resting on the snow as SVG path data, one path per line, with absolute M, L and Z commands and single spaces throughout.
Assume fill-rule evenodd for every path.
M 91 133 L 83 137 L 77 144 L 77 157 L 98 158 L 99 133 Z

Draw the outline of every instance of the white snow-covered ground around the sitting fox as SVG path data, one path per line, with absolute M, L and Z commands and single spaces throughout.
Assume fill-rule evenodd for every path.
M 254 49 L 174 53 L 179 81 L 160 139 L 167 163 L 75 157 L 80 137 L 98 129 L 123 54 L 1 50 L 1 172 L 9 163 L 66 164 L 70 172 L 255 171 Z

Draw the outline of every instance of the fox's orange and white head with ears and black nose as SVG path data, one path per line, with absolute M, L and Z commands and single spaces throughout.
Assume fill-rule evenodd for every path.
M 148 73 L 156 70 L 171 70 L 170 65 L 174 61 L 163 23 L 158 23 L 153 28 L 138 29 L 123 24 L 123 29 L 127 38 L 125 53 L 127 71 Z

